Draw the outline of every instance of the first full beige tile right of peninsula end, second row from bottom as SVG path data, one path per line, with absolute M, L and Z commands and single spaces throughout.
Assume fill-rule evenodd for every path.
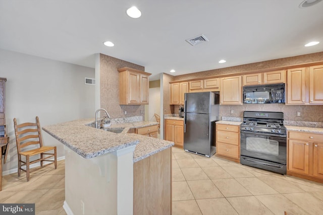
M 187 181 L 195 199 L 221 198 L 223 195 L 211 180 Z

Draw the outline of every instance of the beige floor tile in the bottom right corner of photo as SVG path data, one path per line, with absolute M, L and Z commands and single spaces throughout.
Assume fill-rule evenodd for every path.
M 310 214 L 323 213 L 323 201 L 309 193 L 287 193 L 283 195 Z

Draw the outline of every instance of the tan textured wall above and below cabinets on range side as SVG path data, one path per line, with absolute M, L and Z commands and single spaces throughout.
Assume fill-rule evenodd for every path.
M 295 65 L 301 63 L 315 62 L 323 60 L 323 52 L 305 54 L 294 57 L 267 60 L 245 65 L 232 66 L 227 68 L 200 71 L 182 76 L 173 77 L 173 81 L 202 78 L 232 73 L 243 73 L 263 68 L 274 68 L 279 66 Z M 165 85 L 165 84 L 164 84 Z M 167 97 L 167 98 L 166 98 Z M 169 106 L 169 86 L 164 88 L 164 102 Z M 165 105 L 164 105 L 165 106 Z M 174 106 L 174 105 L 172 105 Z M 175 106 L 175 113 L 179 106 Z M 233 114 L 231 114 L 233 110 Z M 220 117 L 243 117 L 243 111 L 280 111 L 284 113 L 285 120 L 295 121 L 315 121 L 323 122 L 322 105 L 284 105 L 284 104 L 243 104 L 243 105 L 220 105 Z M 301 111 L 301 117 L 296 116 L 296 111 Z M 173 113 L 173 112 L 172 112 Z

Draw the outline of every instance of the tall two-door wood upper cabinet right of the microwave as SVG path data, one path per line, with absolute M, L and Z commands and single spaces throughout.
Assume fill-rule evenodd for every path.
M 287 105 L 323 104 L 323 65 L 287 70 Z

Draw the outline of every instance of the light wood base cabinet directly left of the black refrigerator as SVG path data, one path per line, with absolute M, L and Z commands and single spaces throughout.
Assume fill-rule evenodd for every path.
M 165 120 L 165 139 L 174 142 L 178 147 L 184 147 L 184 121 Z

